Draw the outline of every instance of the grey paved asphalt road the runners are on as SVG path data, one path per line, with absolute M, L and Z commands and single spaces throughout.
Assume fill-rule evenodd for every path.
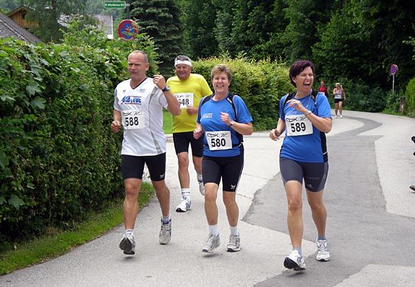
M 225 251 L 229 227 L 218 196 L 221 246 L 201 252 L 208 234 L 192 171 L 192 210 L 180 199 L 177 163 L 167 143 L 172 241 L 158 244 L 160 208 L 154 199 L 135 228 L 136 255 L 118 249 L 119 226 L 68 254 L 0 277 L 0 286 L 415 286 L 415 120 L 344 111 L 328 134 L 329 176 L 324 200 L 331 261 L 315 261 L 315 227 L 304 201 L 304 272 L 286 270 L 291 251 L 286 197 L 279 176 L 281 141 L 267 132 L 245 138 L 239 204 L 241 251 Z M 305 199 L 305 194 L 304 194 Z

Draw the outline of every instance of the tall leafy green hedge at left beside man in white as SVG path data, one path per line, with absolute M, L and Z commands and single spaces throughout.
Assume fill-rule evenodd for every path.
M 73 33 L 47 46 L 0 40 L 0 245 L 71 228 L 122 196 L 113 89 L 131 50 L 156 73 L 154 46 L 95 31 L 91 47 L 90 29 Z

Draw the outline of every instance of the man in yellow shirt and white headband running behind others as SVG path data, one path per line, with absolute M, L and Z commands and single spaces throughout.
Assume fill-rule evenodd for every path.
M 176 76 L 167 80 L 167 85 L 180 103 L 182 113 L 173 117 L 173 141 L 178 159 L 178 180 L 180 181 L 182 201 L 176 207 L 176 212 L 190 210 L 190 175 L 189 175 L 189 145 L 192 147 L 193 165 L 199 182 L 199 191 L 204 196 L 205 187 L 202 178 L 203 137 L 193 138 L 196 129 L 196 117 L 199 103 L 205 95 L 212 91 L 205 78 L 192 74 L 192 60 L 184 55 L 174 59 Z

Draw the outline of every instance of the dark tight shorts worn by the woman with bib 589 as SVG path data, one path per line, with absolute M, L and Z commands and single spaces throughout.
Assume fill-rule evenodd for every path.
M 320 192 L 326 184 L 329 163 L 302 163 L 289 158 L 279 158 L 279 172 L 284 186 L 290 180 L 297 180 L 302 185 L 304 179 L 306 189 Z

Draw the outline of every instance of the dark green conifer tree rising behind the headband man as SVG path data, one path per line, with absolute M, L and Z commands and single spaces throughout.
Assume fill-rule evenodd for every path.
M 158 48 L 160 70 L 172 70 L 174 58 L 181 53 L 182 31 L 180 12 L 174 0 L 131 1 L 131 18 L 140 32 L 154 39 Z

